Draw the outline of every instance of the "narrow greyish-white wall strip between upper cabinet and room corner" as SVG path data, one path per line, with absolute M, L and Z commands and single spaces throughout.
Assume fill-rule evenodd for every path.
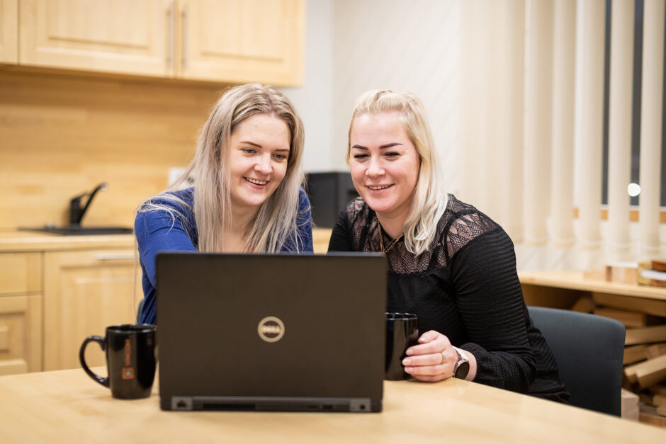
M 305 17 L 305 83 L 281 91 L 305 126 L 305 171 L 331 171 L 333 159 L 333 1 L 308 0 Z

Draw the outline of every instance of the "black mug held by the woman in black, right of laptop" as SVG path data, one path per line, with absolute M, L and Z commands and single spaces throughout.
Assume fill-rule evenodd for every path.
M 419 343 L 419 322 L 416 314 L 386 314 L 386 366 L 384 379 L 389 381 L 407 380 L 412 377 L 405 372 L 402 360 L 405 351 Z

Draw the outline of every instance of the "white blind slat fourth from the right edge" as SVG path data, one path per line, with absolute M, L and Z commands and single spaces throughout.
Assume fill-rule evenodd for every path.
M 551 244 L 570 246 L 573 236 L 573 120 L 576 2 L 555 1 L 553 30 L 553 156 Z

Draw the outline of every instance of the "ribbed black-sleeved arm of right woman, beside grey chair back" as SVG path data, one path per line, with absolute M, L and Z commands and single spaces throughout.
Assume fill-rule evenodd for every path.
M 482 234 L 453 256 L 451 282 L 476 360 L 475 381 L 526 392 L 536 360 L 526 331 L 514 246 L 504 230 Z

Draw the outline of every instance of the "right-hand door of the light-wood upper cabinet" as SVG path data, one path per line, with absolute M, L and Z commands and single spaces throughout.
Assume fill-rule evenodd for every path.
M 303 83 L 304 0 L 181 0 L 176 76 Z

